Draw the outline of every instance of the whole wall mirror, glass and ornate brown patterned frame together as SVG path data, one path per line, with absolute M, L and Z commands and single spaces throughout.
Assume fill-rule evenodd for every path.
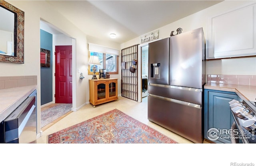
M 24 63 L 24 12 L 0 0 L 0 62 Z

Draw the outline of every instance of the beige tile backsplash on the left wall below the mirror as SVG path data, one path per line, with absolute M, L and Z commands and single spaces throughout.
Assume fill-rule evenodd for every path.
M 37 85 L 37 76 L 0 76 L 0 89 Z

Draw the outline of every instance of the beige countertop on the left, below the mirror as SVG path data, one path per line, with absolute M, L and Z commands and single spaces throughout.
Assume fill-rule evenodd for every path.
M 22 104 L 34 90 L 36 85 L 0 90 L 0 122 Z

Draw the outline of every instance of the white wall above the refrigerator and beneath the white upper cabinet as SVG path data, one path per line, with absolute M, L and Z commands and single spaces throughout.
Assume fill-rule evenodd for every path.
M 228 1 L 220 2 L 219 4 L 216 4 L 210 8 L 206 8 L 205 10 L 192 14 L 186 18 L 170 23 L 164 27 L 159 27 L 158 28 L 159 38 L 164 39 L 166 37 L 170 37 L 171 31 L 176 32 L 176 29 L 178 29 L 179 27 L 183 29 L 182 32 L 203 27 L 204 35 L 207 40 L 208 39 L 208 19 L 210 17 L 217 16 L 222 13 L 226 13 L 236 8 L 240 8 L 240 6 L 243 6 L 245 4 L 250 4 L 255 2 L 256 1 L 236 1 L 236 0 L 235 1 L 228 0 Z M 152 29 L 152 31 L 155 31 L 158 29 Z M 237 32 L 237 33 L 242 33 L 242 32 Z M 122 43 L 121 49 L 137 43 L 140 43 L 140 37 L 127 41 L 126 43 Z M 256 75 L 255 64 L 256 64 L 256 57 L 206 61 L 206 74 Z

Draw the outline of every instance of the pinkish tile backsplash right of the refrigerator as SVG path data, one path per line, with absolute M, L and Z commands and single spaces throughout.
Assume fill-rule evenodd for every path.
M 256 86 L 256 75 L 207 75 L 208 83 L 254 85 Z

